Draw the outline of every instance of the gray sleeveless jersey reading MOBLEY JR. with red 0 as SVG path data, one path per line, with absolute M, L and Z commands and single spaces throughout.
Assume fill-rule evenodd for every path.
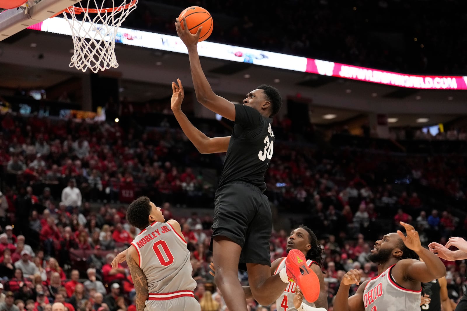
M 149 300 L 194 297 L 190 252 L 186 241 L 169 223 L 155 222 L 131 243 L 148 280 Z

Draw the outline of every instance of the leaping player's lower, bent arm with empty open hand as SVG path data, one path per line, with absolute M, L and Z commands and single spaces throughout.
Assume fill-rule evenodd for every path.
M 198 128 L 194 127 L 182 111 L 182 101 L 184 96 L 182 81 L 177 79 L 177 83 L 172 82 L 172 99 L 170 100 L 170 108 L 172 109 L 174 116 L 186 137 L 188 137 L 200 153 L 227 152 L 230 136 L 210 138 L 198 130 Z

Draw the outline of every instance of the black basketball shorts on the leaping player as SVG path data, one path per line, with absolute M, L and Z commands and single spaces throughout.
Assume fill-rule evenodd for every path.
M 212 238 L 224 236 L 241 246 L 239 268 L 246 270 L 246 263 L 271 266 L 268 197 L 258 187 L 238 181 L 221 186 L 214 205 Z M 209 249 L 212 251 L 212 240 Z

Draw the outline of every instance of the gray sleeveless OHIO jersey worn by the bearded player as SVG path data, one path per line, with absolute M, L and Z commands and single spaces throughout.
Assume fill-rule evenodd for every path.
M 407 290 L 394 281 L 391 266 L 372 278 L 363 291 L 365 311 L 419 311 L 420 290 Z

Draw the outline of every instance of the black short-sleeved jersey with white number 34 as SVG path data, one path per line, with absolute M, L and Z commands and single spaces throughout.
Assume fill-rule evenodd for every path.
M 274 151 L 271 118 L 265 118 L 254 108 L 235 105 L 235 124 L 226 159 L 220 174 L 219 187 L 243 181 L 266 190 L 264 174 Z

